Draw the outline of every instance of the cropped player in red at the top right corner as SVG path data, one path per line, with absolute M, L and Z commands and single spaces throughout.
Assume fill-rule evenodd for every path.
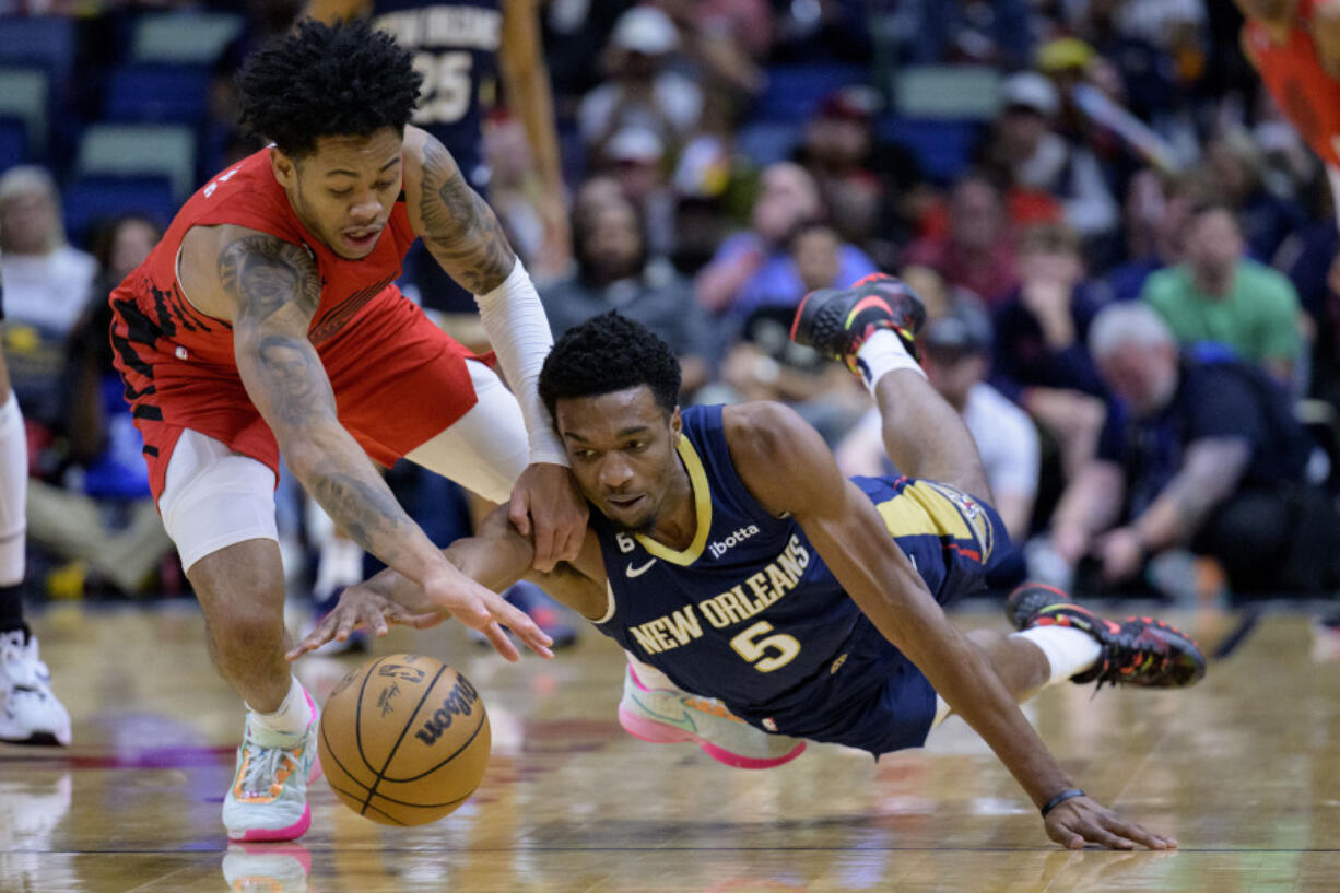
M 1327 168 L 1340 208 L 1340 3 L 1235 0 L 1242 51 Z

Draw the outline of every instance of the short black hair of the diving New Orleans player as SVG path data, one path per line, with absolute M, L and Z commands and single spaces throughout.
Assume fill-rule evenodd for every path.
M 611 310 L 574 326 L 540 370 L 540 400 L 549 414 L 560 400 L 599 397 L 646 385 L 657 405 L 679 405 L 679 361 L 670 345 L 639 322 Z

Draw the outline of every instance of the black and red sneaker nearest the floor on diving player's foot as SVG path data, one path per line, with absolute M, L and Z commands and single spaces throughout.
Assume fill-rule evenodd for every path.
M 1151 617 L 1127 617 L 1120 623 L 1076 605 L 1059 589 L 1024 583 L 1005 599 L 1005 615 L 1017 630 L 1069 626 L 1103 646 L 1092 669 L 1071 678 L 1084 685 L 1185 688 L 1205 676 L 1205 656 L 1191 637 Z

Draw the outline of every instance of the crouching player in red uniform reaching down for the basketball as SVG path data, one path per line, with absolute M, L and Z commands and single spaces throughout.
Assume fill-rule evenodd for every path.
M 111 294 L 150 484 L 210 654 L 248 709 L 222 809 L 233 839 L 303 834 L 319 771 L 316 709 L 284 660 L 280 453 L 363 548 L 509 660 L 500 623 L 545 656 L 548 638 L 442 558 L 368 456 L 512 493 L 515 523 L 544 543 L 537 567 L 575 555 L 586 527 L 535 393 L 552 343 L 539 296 L 452 156 L 407 126 L 419 82 L 366 24 L 304 21 L 252 55 L 243 123 L 273 145 L 197 192 Z M 516 398 L 391 284 L 417 237 L 477 295 Z

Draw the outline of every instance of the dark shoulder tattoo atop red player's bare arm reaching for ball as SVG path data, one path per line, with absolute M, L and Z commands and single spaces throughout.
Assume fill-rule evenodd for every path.
M 322 299 L 320 276 L 307 251 L 268 236 L 245 236 L 218 255 L 218 282 L 239 316 L 269 319 L 285 306 L 311 316 Z

